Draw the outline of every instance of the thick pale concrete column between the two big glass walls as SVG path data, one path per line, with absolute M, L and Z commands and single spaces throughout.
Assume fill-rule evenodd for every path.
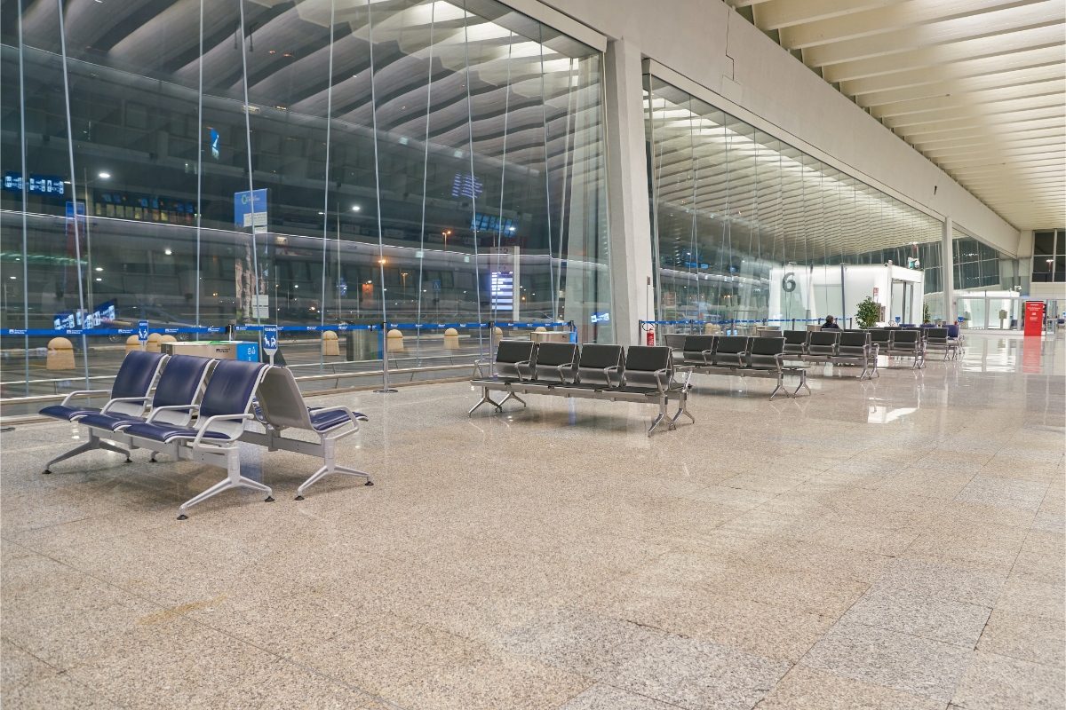
M 637 320 L 650 320 L 655 300 L 648 166 L 645 155 L 644 87 L 640 50 L 625 39 L 608 43 L 607 90 L 608 201 L 611 227 L 611 286 L 615 337 L 640 343 Z

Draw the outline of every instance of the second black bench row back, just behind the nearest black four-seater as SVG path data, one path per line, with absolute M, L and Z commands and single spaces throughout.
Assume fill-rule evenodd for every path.
M 707 375 L 740 375 L 741 377 L 773 377 L 778 392 L 790 397 L 807 390 L 807 370 L 802 366 L 785 364 L 785 340 L 781 337 L 750 337 L 747 335 L 667 335 L 666 345 L 673 350 L 674 360 L 694 371 Z M 794 375 L 800 384 L 790 394 L 785 387 L 785 376 Z

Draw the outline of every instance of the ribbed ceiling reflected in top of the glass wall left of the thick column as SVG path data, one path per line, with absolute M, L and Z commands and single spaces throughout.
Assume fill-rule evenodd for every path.
M 249 104 L 261 112 L 257 120 L 284 112 L 286 123 L 322 128 L 324 139 L 320 123 L 332 90 L 332 118 L 352 131 L 365 132 L 376 120 L 387 136 L 411 143 L 427 137 L 431 150 L 449 151 L 467 149 L 472 137 L 474 153 L 502 155 L 505 148 L 508 165 L 530 169 L 544 167 L 546 134 L 549 168 L 568 150 L 600 139 L 598 63 L 582 62 L 596 56 L 595 49 L 491 0 L 468 0 L 466 11 L 461 4 L 245 0 L 247 90 Z M 109 90 L 99 79 L 112 79 L 113 96 L 103 99 L 120 101 L 131 85 L 151 79 L 164 83 L 151 87 L 160 103 L 169 93 L 182 105 L 195 104 L 203 71 L 206 101 L 210 94 L 210 100 L 241 102 L 239 5 L 203 3 L 203 57 L 200 6 L 199 0 L 70 0 L 71 67 L 85 63 L 83 70 L 97 77 L 95 90 Z M 32 2 L 23 18 L 27 47 L 58 53 L 55 3 Z M 368 80 L 371 40 L 376 105 Z M 586 167 L 571 165 L 579 177 Z

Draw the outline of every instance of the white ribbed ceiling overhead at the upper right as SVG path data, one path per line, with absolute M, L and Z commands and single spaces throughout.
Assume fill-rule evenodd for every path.
M 1066 225 L 1063 0 L 726 0 L 1018 229 Z

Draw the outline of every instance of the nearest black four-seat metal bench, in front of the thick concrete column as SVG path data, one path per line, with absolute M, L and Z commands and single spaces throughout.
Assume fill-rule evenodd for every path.
M 678 375 L 683 376 L 678 379 Z M 514 399 L 526 404 L 520 394 L 581 397 L 608 401 L 635 401 L 659 404 L 659 414 L 648 428 L 648 435 L 662 423 L 676 428 L 688 411 L 691 369 L 677 370 L 667 347 L 587 344 L 534 343 L 503 340 L 496 357 L 474 364 L 471 383 L 481 387 L 481 399 L 469 414 L 482 404 L 503 411 L 503 404 Z M 490 392 L 505 392 L 497 402 Z M 668 412 L 671 400 L 677 412 Z

